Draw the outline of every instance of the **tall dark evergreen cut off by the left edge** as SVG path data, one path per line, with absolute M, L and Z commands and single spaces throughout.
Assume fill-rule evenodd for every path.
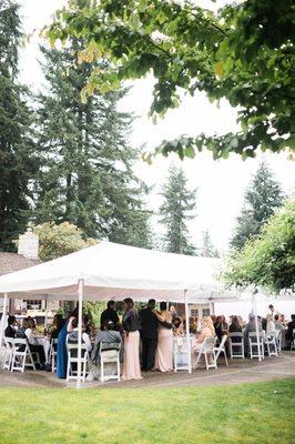
M 29 180 L 37 161 L 31 139 L 32 112 L 28 92 L 18 82 L 21 43 L 18 6 L 0 3 L 0 249 L 13 251 L 12 240 L 26 230 Z

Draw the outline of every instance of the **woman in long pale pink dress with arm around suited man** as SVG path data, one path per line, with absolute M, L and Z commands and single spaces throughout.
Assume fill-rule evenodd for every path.
M 160 372 L 170 372 L 173 370 L 172 314 L 167 311 L 165 302 L 161 302 L 160 310 L 160 314 L 154 312 L 160 321 L 154 367 Z

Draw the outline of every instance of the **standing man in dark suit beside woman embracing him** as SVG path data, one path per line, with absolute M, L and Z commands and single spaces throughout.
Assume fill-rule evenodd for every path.
M 141 319 L 141 340 L 142 340 L 142 371 L 148 372 L 154 366 L 154 359 L 157 343 L 159 321 L 153 313 L 155 300 L 150 299 L 146 309 L 140 311 Z

